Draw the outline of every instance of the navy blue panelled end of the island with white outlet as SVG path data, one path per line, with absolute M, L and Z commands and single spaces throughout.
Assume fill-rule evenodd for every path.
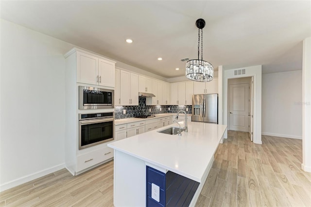
M 146 172 L 146 207 L 188 207 L 200 184 L 172 171 L 147 166 Z

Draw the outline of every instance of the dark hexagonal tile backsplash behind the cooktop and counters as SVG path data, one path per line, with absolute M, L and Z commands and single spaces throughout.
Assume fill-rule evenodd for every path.
M 188 108 L 188 112 L 186 111 L 186 108 Z M 149 112 L 149 109 L 151 109 L 151 112 Z M 126 110 L 125 114 L 123 114 L 123 110 Z M 146 114 L 152 115 L 152 114 L 158 114 L 158 113 L 177 113 L 180 110 L 186 111 L 186 113 L 191 114 L 192 105 L 146 106 L 146 98 L 139 97 L 138 106 L 116 106 L 115 107 L 115 119 L 131 118 L 131 117 L 146 115 Z

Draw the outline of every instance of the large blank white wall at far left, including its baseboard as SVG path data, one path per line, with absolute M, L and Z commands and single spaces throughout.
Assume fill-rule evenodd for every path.
M 73 45 L 2 20 L 0 188 L 64 168 L 65 59 Z

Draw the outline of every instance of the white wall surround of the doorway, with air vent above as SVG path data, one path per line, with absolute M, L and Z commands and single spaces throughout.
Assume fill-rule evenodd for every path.
M 246 73 L 244 75 L 234 75 L 235 70 L 239 69 L 245 69 Z M 225 70 L 224 67 L 222 67 L 223 74 L 223 121 L 224 125 L 227 125 L 228 123 L 228 79 L 231 78 L 238 78 L 238 77 L 251 77 L 254 78 L 254 88 L 253 88 L 253 142 L 256 144 L 262 144 L 261 141 L 261 65 L 257 66 L 250 66 L 245 68 L 236 68 L 236 69 L 230 69 Z

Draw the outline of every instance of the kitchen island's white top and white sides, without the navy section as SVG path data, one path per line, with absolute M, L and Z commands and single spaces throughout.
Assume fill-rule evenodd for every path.
M 183 121 L 179 124 L 184 126 Z M 160 133 L 170 127 L 179 126 L 174 123 L 108 144 L 114 149 L 116 207 L 146 206 L 146 166 L 164 175 L 173 172 L 199 183 L 189 206 L 195 205 L 214 161 L 214 152 L 224 138 L 226 126 L 189 122 L 188 132 L 182 132 L 181 136 Z

